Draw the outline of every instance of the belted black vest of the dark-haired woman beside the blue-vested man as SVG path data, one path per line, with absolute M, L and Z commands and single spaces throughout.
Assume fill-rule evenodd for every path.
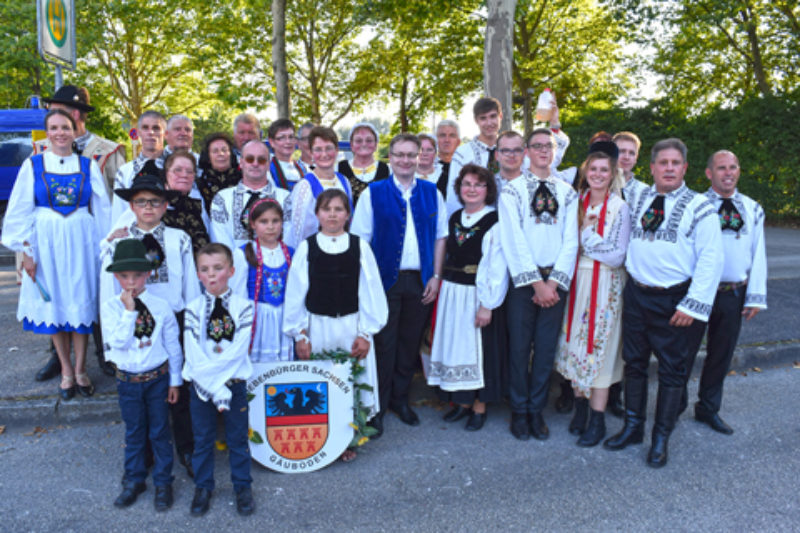
M 497 211 L 481 217 L 467 228 L 461 225 L 459 209 L 450 217 L 450 234 L 447 236 L 447 257 L 442 277 L 459 285 L 475 285 L 478 263 L 483 257 L 483 236 L 497 222 Z

